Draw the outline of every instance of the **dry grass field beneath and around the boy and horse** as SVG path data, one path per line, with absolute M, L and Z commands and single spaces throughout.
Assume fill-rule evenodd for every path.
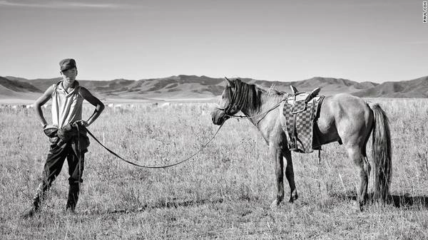
M 275 175 L 267 146 L 248 120 L 228 120 L 203 152 L 168 169 L 133 167 L 91 140 L 76 214 L 64 213 L 65 164 L 41 214 L 20 219 L 49 141 L 34 110 L 0 110 L 0 239 L 428 239 L 428 100 L 373 101 L 390 120 L 396 201 L 363 212 L 354 207 L 357 174 L 337 143 L 323 148 L 320 161 L 317 152 L 293 153 L 300 198 L 270 209 Z M 128 160 L 165 165 L 213 135 L 212 107 L 106 108 L 90 130 Z

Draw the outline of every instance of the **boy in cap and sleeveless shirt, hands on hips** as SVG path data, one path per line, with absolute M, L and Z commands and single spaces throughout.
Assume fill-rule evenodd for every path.
M 101 100 L 93 96 L 76 80 L 76 61 L 72 58 L 63 59 L 59 63 L 61 77 L 58 83 L 51 85 L 34 103 L 36 115 L 49 136 L 51 149 L 46 158 L 42 179 L 33 198 L 31 209 L 23 214 L 24 218 L 33 216 L 40 210 L 41 200 L 46 190 L 61 172 L 63 162 L 68 162 L 68 200 L 66 211 L 74 212 L 78 201 L 80 184 L 83 182 L 84 154 L 88 152 L 88 137 L 85 127 L 95 121 L 104 109 Z M 47 125 L 41 106 L 52 99 L 52 125 Z M 82 103 L 87 100 L 95 110 L 88 120 L 82 120 Z

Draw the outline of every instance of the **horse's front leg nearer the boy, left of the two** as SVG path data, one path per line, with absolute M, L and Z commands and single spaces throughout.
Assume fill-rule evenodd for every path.
M 270 155 L 275 161 L 275 181 L 277 187 L 277 197 L 271 206 L 279 205 L 284 199 L 284 160 L 282 159 L 282 150 L 279 144 L 270 144 Z

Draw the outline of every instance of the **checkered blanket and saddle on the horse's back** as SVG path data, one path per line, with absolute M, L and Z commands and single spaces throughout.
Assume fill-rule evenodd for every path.
M 282 125 L 282 129 L 287 135 L 289 149 L 295 152 L 310 153 L 321 147 L 314 135 L 314 124 L 324 96 L 313 97 L 310 94 L 295 93 L 283 102 L 285 126 Z

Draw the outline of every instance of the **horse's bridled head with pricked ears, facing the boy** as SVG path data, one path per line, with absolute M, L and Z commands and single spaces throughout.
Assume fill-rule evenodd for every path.
M 216 107 L 211 113 L 211 117 L 215 125 L 222 125 L 225 120 L 228 120 L 231 115 L 235 115 L 240 110 L 238 105 L 235 103 L 236 85 L 238 84 L 235 83 L 235 81 L 239 80 L 225 79 L 227 83 L 226 88 L 223 90 L 218 107 Z

